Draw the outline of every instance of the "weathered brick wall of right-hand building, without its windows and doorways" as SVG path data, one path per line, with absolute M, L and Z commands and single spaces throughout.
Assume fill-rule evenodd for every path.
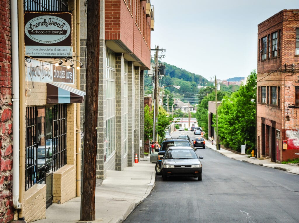
M 299 27 L 299 10 L 282 10 L 258 25 L 258 61 L 257 61 L 257 87 L 280 87 L 280 104 L 257 103 L 257 135 L 261 135 L 261 118 L 266 119 L 266 125 L 275 122 L 275 128 L 280 131 L 279 151 L 277 161 L 295 158 L 295 152 L 299 149 L 299 108 L 294 108 L 295 87 L 299 86 L 299 55 L 295 55 L 296 28 Z M 261 38 L 278 31 L 277 57 L 268 58 L 269 41 L 267 40 L 267 59 L 261 60 Z M 278 70 L 277 70 L 278 69 Z M 277 70 L 277 71 L 275 71 Z M 275 72 L 274 72 L 275 71 Z M 258 96 L 261 92 L 258 91 Z M 259 101 L 259 100 L 258 100 Z M 291 107 L 289 107 L 289 104 Z M 269 139 L 266 131 L 265 144 L 266 155 L 269 154 Z M 282 150 L 282 142 L 287 140 L 288 149 Z M 258 145 L 261 154 L 261 142 Z M 297 156 L 298 157 L 298 156 Z

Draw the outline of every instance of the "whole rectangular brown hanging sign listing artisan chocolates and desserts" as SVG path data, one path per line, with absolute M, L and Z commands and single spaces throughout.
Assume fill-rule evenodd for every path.
M 24 13 L 25 56 L 72 57 L 71 13 Z

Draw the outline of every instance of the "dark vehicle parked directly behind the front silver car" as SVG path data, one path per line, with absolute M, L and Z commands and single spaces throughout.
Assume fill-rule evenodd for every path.
M 161 159 L 159 159 L 160 156 L 163 156 L 165 151 L 170 147 L 170 146 L 188 146 L 193 148 L 193 145 L 191 142 L 187 141 L 186 139 L 168 139 L 164 140 L 161 143 L 161 148 L 156 149 L 154 153 L 158 152 L 157 160 L 156 160 L 156 166 L 155 166 L 155 171 L 157 175 L 161 175 Z M 151 161 L 152 162 L 152 161 Z

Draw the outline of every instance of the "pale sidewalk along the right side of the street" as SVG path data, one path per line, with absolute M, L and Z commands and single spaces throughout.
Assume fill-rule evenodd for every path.
M 235 154 L 231 151 L 228 151 L 228 150 L 225 150 L 222 148 L 217 150 L 216 145 L 215 144 L 212 145 L 212 143 L 207 140 L 206 140 L 206 146 L 215 150 L 216 152 L 221 153 L 222 155 L 225 155 L 234 160 L 240 160 L 240 161 L 247 162 L 247 163 L 253 163 L 256 165 L 260 165 L 260 166 L 271 167 L 271 168 L 275 168 L 275 169 L 284 170 L 284 171 L 287 171 L 290 173 L 299 174 L 299 166 L 297 165 L 297 163 L 292 163 L 292 164 L 274 163 L 274 162 L 271 162 L 271 158 L 265 159 L 265 160 L 259 160 L 254 157 L 249 158 L 248 154 L 246 154 L 246 155 Z

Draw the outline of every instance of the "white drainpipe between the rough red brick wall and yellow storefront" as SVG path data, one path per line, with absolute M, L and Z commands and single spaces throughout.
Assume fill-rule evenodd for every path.
M 13 102 L 13 207 L 21 209 L 19 203 L 19 164 L 20 164 L 20 98 L 19 98 L 19 34 L 18 1 L 10 1 L 11 14 L 11 57 L 12 57 L 12 102 Z

